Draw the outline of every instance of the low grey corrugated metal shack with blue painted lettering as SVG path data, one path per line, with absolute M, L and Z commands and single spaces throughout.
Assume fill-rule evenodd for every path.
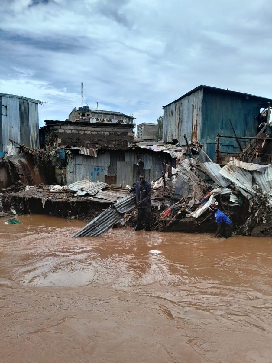
M 176 167 L 176 154 L 137 148 L 131 151 L 98 150 L 97 156 L 79 154 L 71 150 L 67 161 L 66 182 L 78 180 L 104 181 L 109 185 L 132 185 L 141 173 L 147 181 L 162 174 L 164 162 Z

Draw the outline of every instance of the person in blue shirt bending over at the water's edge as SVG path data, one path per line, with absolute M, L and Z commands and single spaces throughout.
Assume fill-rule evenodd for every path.
M 214 216 L 214 220 L 217 223 L 217 231 L 214 234 L 214 237 L 218 238 L 230 238 L 233 231 L 233 226 L 231 220 L 226 216 L 220 209 L 218 209 L 218 203 L 215 202 L 211 204 L 209 207 L 209 211 L 211 212 L 203 221 L 202 224 L 207 219 L 209 219 L 212 215 Z

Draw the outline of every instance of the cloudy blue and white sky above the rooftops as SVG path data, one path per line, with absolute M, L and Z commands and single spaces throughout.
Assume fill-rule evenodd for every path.
M 263 0 L 1 0 L 0 92 L 156 122 L 205 84 L 272 97 L 272 4 Z M 83 101 L 83 105 L 85 102 Z

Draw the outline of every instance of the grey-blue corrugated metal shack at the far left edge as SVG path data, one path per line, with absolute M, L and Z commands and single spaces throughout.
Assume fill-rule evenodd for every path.
M 0 156 L 9 139 L 38 148 L 39 116 L 36 99 L 0 93 Z

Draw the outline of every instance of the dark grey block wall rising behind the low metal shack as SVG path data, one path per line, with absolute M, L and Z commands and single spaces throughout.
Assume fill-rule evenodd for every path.
M 125 149 L 133 142 L 131 125 L 79 124 L 62 122 L 50 125 L 50 131 L 57 130 L 63 145 L 94 148 Z

